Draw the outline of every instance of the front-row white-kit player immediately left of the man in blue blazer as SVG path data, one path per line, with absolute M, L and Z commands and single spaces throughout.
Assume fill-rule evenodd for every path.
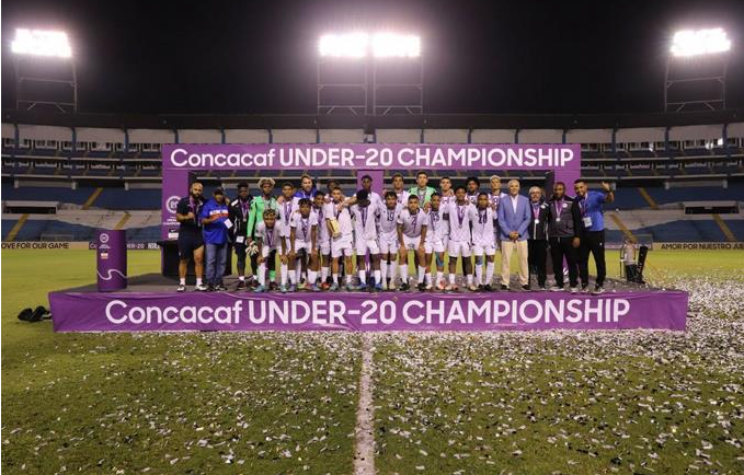
M 476 254 L 476 285 L 468 286 L 470 290 L 493 290 L 494 256 L 496 255 L 496 242 L 493 239 L 496 212 L 491 208 L 489 194 L 478 194 L 476 212 L 471 213 L 470 227 L 472 230 L 472 248 Z M 485 276 L 483 276 L 483 255 L 485 255 Z M 485 279 L 483 278 L 485 277 Z

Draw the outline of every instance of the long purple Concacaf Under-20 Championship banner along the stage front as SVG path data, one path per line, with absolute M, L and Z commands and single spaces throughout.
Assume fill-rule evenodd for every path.
M 685 329 L 687 293 L 51 292 L 55 332 Z

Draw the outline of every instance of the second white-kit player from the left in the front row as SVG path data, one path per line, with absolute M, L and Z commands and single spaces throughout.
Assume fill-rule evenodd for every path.
M 295 273 L 297 265 L 297 255 L 304 251 L 306 255 L 310 256 L 310 267 L 308 270 L 308 282 L 312 285 L 312 290 L 318 291 L 316 287 L 316 278 L 318 277 L 318 216 L 311 211 L 309 198 L 301 198 L 299 200 L 299 212 L 294 212 L 289 220 L 289 254 L 287 260 L 289 263 L 289 291 L 297 290 L 298 278 Z

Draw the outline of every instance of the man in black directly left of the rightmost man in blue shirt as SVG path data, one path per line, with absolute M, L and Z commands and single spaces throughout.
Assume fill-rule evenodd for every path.
M 565 184 L 557 182 L 553 195 L 548 200 L 548 243 L 550 244 L 550 259 L 553 263 L 556 285 L 550 288 L 553 292 L 563 290 L 563 259 L 569 267 L 569 286 L 571 293 L 579 291 L 579 267 L 576 264 L 581 239 L 581 212 L 579 201 L 565 195 Z

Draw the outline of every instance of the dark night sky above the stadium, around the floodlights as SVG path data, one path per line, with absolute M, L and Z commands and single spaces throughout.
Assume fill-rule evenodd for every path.
M 314 113 L 321 33 L 417 32 L 431 113 L 661 109 L 668 39 L 725 27 L 744 107 L 744 0 L 2 1 L 2 102 L 18 26 L 71 35 L 84 112 Z

